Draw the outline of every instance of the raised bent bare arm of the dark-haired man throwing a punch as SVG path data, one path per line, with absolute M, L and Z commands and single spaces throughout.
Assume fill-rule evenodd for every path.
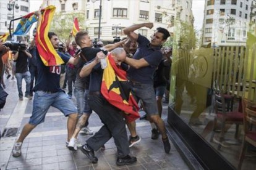
M 151 29 L 153 27 L 153 23 L 151 23 L 151 22 L 139 23 L 139 24 L 135 24 L 135 25 L 132 25 L 132 26 L 128 26 L 128 27 L 124 28 L 124 34 L 129 36 L 130 39 L 133 39 L 133 40 L 137 41 L 138 34 L 134 33 L 134 31 L 138 30 L 139 28 L 142 28 L 144 26 Z

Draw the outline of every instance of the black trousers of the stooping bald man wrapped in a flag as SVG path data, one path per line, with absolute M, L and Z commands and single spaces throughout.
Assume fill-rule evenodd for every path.
M 126 132 L 124 117 L 119 113 L 119 109 L 111 105 L 101 94 L 88 95 L 88 103 L 92 110 L 100 117 L 104 124 L 94 136 L 87 140 L 87 144 L 98 150 L 111 137 L 117 147 L 117 155 L 122 158 L 129 154 L 129 142 Z

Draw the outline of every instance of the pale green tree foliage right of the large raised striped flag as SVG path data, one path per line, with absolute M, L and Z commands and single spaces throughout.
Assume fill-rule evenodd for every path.
M 53 17 L 50 31 L 53 31 L 54 33 L 58 34 L 58 37 L 61 42 L 66 42 L 69 38 L 70 31 L 72 30 L 75 17 L 77 17 L 79 21 L 80 30 L 85 30 L 85 14 L 75 12 L 69 14 L 62 14 L 61 12 L 59 12 L 58 14 L 55 14 Z

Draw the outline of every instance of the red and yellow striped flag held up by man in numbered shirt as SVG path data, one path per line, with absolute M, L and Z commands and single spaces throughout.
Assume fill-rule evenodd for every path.
M 64 63 L 48 38 L 49 26 L 51 20 L 53 20 L 55 9 L 55 6 L 48 6 L 41 10 L 42 16 L 41 20 L 38 21 L 38 28 L 36 30 L 36 47 L 41 60 L 46 66 Z

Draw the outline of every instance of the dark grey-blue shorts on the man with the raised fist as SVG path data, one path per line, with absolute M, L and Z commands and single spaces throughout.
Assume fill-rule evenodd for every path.
M 130 87 L 137 102 L 139 101 L 139 99 L 142 100 L 147 115 L 158 115 L 156 95 L 153 88 L 153 84 L 130 82 Z

